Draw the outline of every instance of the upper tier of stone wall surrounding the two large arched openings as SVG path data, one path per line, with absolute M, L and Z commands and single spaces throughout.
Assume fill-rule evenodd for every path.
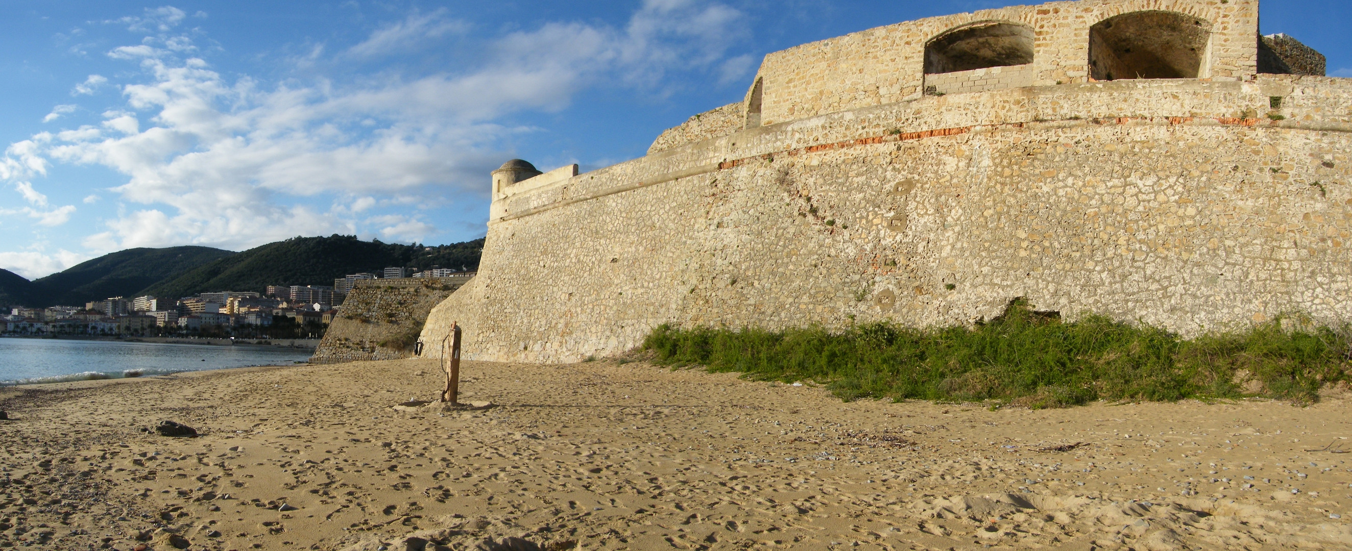
M 919 19 L 768 54 L 757 73 L 761 120 L 773 124 L 915 99 L 923 93 L 925 45 L 977 23 L 1034 30 L 1033 85 L 1087 82 L 1090 27 L 1137 11 L 1179 12 L 1209 26 L 1201 77 L 1240 80 L 1256 72 L 1257 0 L 1055 1 Z

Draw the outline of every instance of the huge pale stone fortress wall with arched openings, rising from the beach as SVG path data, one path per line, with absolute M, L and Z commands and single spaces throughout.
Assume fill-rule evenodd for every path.
M 969 324 L 1015 297 L 1184 335 L 1352 321 L 1352 81 L 1260 74 L 1256 14 L 1051 3 L 769 54 L 740 109 L 646 157 L 495 172 L 479 277 L 422 339 L 454 320 L 466 358 L 568 362 L 662 323 Z

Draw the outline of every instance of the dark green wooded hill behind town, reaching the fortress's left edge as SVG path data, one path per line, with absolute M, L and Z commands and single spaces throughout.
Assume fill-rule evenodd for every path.
M 483 239 L 423 247 L 364 242 L 353 235 L 292 238 L 216 259 L 154 284 L 139 294 L 187 297 L 212 290 L 261 293 L 268 285 L 333 285 L 335 278 L 346 274 L 379 273 L 387 266 L 477 269 L 483 247 Z

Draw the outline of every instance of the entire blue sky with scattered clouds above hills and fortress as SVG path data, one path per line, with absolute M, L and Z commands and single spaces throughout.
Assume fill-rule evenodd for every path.
M 488 172 L 583 170 L 737 101 L 765 53 L 1006 1 L 7 0 L 0 267 L 296 235 L 484 235 Z M 1352 77 L 1352 3 L 1267 0 Z

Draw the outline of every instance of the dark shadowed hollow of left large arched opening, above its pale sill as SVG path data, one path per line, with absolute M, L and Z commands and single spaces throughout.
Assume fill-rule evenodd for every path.
M 1033 62 L 1033 30 L 1014 23 L 977 23 L 944 32 L 925 45 L 925 74 Z

